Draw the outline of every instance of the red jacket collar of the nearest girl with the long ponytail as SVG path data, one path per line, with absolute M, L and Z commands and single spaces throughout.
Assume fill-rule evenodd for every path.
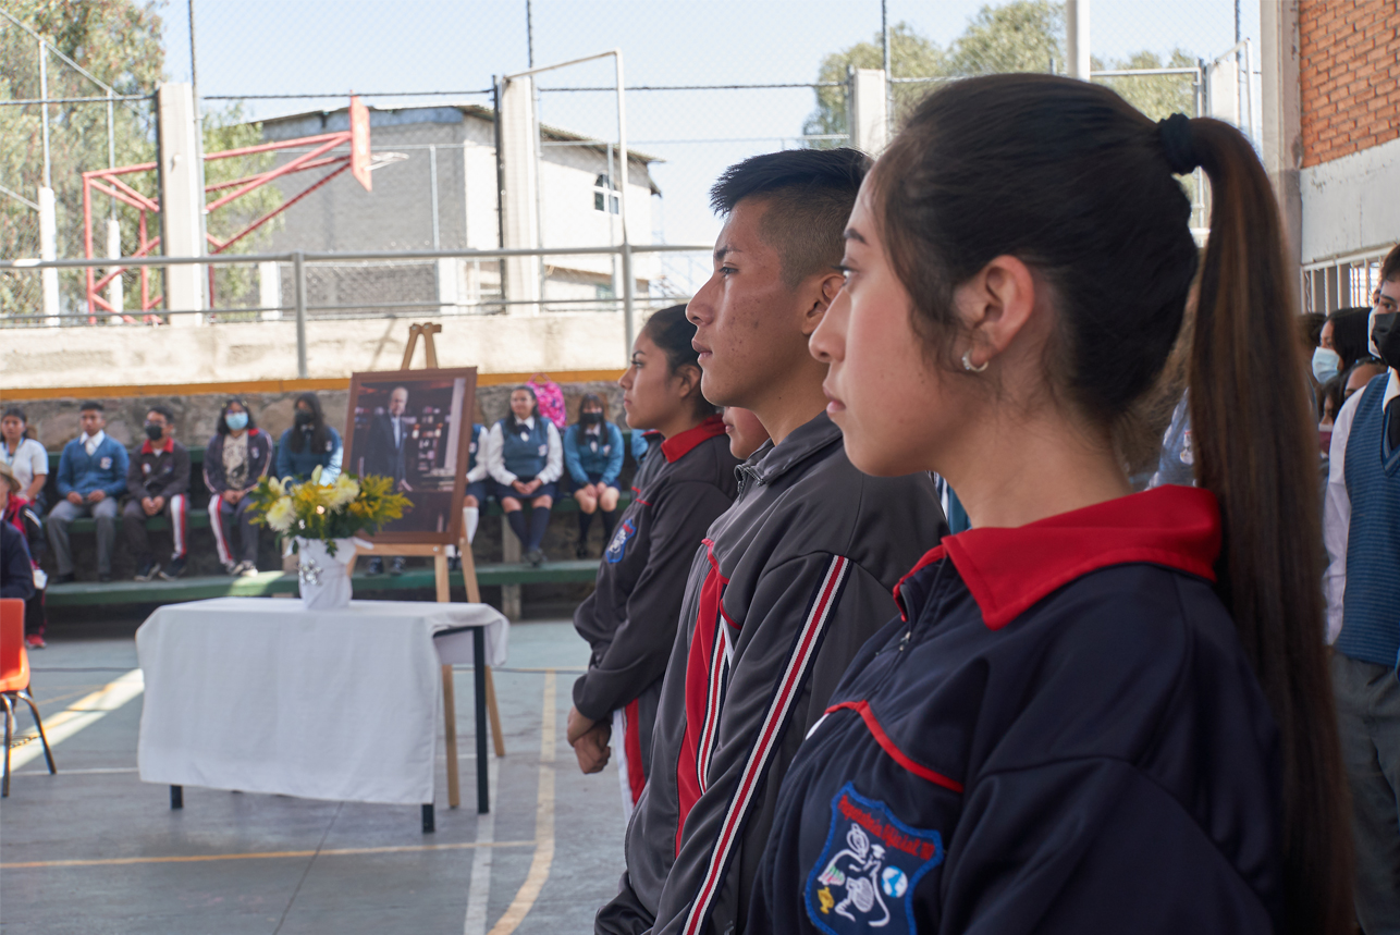
M 1215 494 L 1168 484 L 1025 526 L 946 536 L 899 579 L 895 602 L 903 614 L 900 585 L 948 557 L 983 621 L 1000 630 L 1051 591 L 1109 565 L 1148 563 L 1215 581 L 1219 551 Z

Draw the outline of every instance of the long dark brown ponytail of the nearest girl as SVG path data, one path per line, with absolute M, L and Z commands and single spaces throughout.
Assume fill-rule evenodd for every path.
M 1355 928 L 1331 680 L 1326 665 L 1317 433 L 1303 392 L 1278 206 L 1249 141 L 1190 122 L 1211 182 L 1211 232 L 1189 357 L 1200 486 L 1221 507 L 1218 589 L 1278 722 L 1288 931 Z

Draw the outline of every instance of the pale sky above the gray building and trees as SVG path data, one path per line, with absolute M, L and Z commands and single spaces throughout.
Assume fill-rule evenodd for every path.
M 1268 1 L 1268 0 L 1264 0 Z M 888 0 L 904 21 L 948 45 L 981 0 Z M 221 95 L 323 94 L 246 101 L 251 116 L 340 108 L 350 91 L 479 91 L 528 66 L 525 0 L 196 0 L 197 91 Z M 167 74 L 190 80 L 188 0 L 162 10 Z M 1259 0 L 1242 0 L 1242 35 L 1259 36 Z M 627 85 L 780 84 L 816 80 L 822 57 L 881 28 L 879 0 L 535 0 L 535 64 L 623 50 Z M 1212 59 L 1235 42 L 1233 0 L 1092 0 L 1092 50 L 1121 59 L 1182 48 Z M 612 62 L 545 76 L 549 87 L 610 87 Z M 1256 64 L 1257 70 L 1257 55 Z M 489 104 L 487 97 L 435 102 Z M 371 98 L 375 106 L 424 98 Z M 795 146 L 813 111 L 811 88 L 637 91 L 627 95 L 629 144 L 666 160 L 654 167 L 655 234 L 711 244 L 718 223 L 706 189 L 728 164 Z M 616 139 L 612 92 L 545 92 L 540 119 Z M 389 171 L 389 169 L 386 169 Z M 293 209 L 295 210 L 295 209 Z M 546 245 L 547 246 L 547 245 Z

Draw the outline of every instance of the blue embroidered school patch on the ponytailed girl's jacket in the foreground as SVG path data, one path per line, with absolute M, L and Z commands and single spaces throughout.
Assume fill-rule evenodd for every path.
M 827 935 L 913 935 L 914 887 L 942 861 L 938 831 L 909 827 L 847 782 L 832 799 L 832 829 L 806 879 L 806 914 Z

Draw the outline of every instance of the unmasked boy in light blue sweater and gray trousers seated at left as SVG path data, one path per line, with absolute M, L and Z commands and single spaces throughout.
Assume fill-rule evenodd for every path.
M 126 493 L 126 449 L 104 431 L 102 403 L 90 400 L 78 407 L 83 434 L 63 447 L 59 458 L 59 497 L 49 511 L 49 544 L 59 568 L 55 584 L 73 581 L 73 549 L 69 523 L 80 516 L 97 521 L 98 581 L 112 579 L 112 549 L 116 544 L 116 498 Z

